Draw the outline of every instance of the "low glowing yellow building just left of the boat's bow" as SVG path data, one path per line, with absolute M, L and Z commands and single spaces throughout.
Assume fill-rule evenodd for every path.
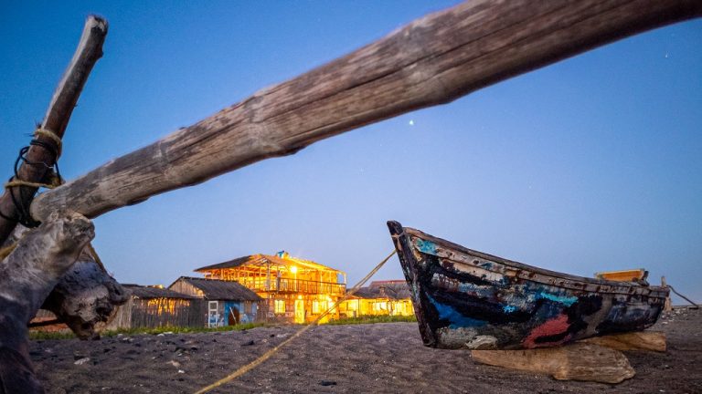
M 412 316 L 410 286 L 404 280 L 374 281 L 339 305 L 341 316 Z

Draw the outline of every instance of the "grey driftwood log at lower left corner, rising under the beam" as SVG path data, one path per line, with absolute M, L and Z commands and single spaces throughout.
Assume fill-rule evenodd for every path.
M 27 323 L 93 236 L 84 216 L 52 213 L 0 262 L 0 392 L 43 392 L 29 358 Z

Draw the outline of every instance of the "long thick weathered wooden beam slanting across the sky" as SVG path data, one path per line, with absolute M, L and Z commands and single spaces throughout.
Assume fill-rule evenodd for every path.
M 96 217 L 700 15 L 698 0 L 457 5 L 43 193 L 31 213 L 42 220 L 67 206 Z

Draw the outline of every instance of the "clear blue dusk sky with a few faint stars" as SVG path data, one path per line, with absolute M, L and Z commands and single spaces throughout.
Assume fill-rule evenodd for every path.
M 69 180 L 455 3 L 0 0 L 0 175 L 91 13 L 110 31 L 64 138 Z M 700 302 L 700 47 L 699 19 L 633 36 L 106 213 L 93 244 L 122 283 L 285 250 L 353 285 L 398 220 L 574 275 L 644 267 Z M 399 278 L 393 257 L 373 279 Z

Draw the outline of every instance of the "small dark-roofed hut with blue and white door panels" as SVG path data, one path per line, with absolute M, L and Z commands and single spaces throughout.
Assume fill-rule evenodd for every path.
M 232 281 L 181 276 L 168 288 L 206 301 L 203 316 L 207 327 L 259 321 L 259 309 L 263 308 L 262 314 L 266 309 L 260 296 Z

